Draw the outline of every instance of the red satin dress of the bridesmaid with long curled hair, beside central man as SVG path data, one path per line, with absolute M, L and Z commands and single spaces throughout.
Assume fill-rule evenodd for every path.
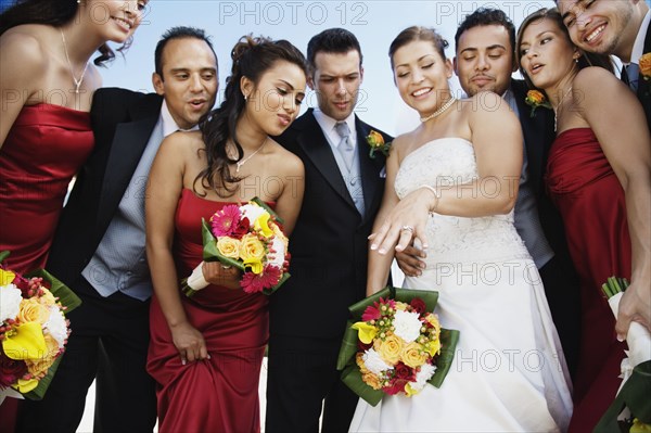
M 174 254 L 179 278 L 202 260 L 201 218 L 230 203 L 183 189 L 177 206 Z M 156 297 L 150 310 L 148 371 L 157 382 L 158 431 L 259 432 L 259 373 L 269 338 L 268 300 L 209 285 L 181 294 L 188 319 L 203 334 L 210 359 L 181 365 Z

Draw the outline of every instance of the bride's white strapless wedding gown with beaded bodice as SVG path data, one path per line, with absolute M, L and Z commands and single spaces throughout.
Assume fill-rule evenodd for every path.
M 443 190 L 476 178 L 472 143 L 444 138 L 405 157 L 395 189 L 404 198 L 422 184 Z M 481 182 L 475 193 L 495 195 L 496 183 Z M 385 396 L 375 407 L 360 399 L 350 431 L 565 431 L 570 377 L 512 212 L 481 218 L 436 214 L 427 241 L 426 269 L 404 285 L 439 292 L 435 313 L 442 326 L 461 332 L 452 367 L 441 389 Z

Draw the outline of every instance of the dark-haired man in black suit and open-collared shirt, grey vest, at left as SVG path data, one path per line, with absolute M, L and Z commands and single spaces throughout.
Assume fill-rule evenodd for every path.
M 84 304 L 68 316 L 73 332 L 44 399 L 23 406 L 21 431 L 74 432 L 95 374 L 94 431 L 151 432 L 156 422 L 145 371 L 152 288 L 143 194 L 161 141 L 212 109 L 217 58 L 203 30 L 175 27 L 156 46 L 155 66 L 156 93 L 106 88 L 93 97 L 95 149 L 47 265 Z

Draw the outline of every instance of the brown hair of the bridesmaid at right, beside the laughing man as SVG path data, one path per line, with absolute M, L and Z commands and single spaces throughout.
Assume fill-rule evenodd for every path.
M 520 73 L 522 74 L 522 76 L 524 77 L 524 80 L 526 81 L 526 84 L 528 85 L 528 87 L 531 89 L 537 89 L 537 87 L 534 86 L 534 84 L 532 82 L 529 77 L 526 75 L 526 72 L 522 67 L 522 62 L 520 61 L 520 59 L 521 59 L 520 47 L 522 46 L 522 34 L 524 34 L 524 30 L 529 25 L 532 25 L 534 22 L 545 20 L 545 18 L 552 21 L 557 25 L 557 27 L 559 27 L 561 29 L 561 33 L 563 34 L 563 36 L 565 37 L 567 42 L 570 42 L 570 44 L 574 46 L 574 42 L 572 42 L 572 38 L 570 38 L 570 31 L 567 31 L 567 27 L 565 27 L 565 24 L 563 23 L 563 16 L 561 15 L 561 13 L 559 12 L 559 10 L 557 8 L 551 8 L 551 9 L 542 8 L 540 10 L 532 13 L 526 18 L 524 18 L 524 21 L 520 25 L 520 28 L 518 29 L 518 42 L 515 43 L 515 61 L 518 62 L 518 67 L 520 68 Z M 577 59 L 578 60 L 577 64 L 578 64 L 579 71 L 583 69 L 584 67 L 588 67 L 588 66 L 599 66 L 599 67 L 602 67 L 605 71 L 610 72 L 611 74 L 615 73 L 614 72 L 615 69 L 613 66 L 613 61 L 610 55 L 596 54 L 596 53 L 584 52 L 584 51 L 580 51 L 580 54 L 582 55 Z M 538 89 L 538 90 L 541 90 L 541 89 Z

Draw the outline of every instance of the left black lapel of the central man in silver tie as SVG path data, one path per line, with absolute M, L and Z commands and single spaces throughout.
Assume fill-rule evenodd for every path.
M 332 148 L 328 143 L 328 139 L 323 135 L 312 111 L 308 111 L 305 116 L 303 131 L 297 137 L 298 145 L 334 191 L 355 208 L 355 203 L 348 193 L 342 173 L 332 154 Z

